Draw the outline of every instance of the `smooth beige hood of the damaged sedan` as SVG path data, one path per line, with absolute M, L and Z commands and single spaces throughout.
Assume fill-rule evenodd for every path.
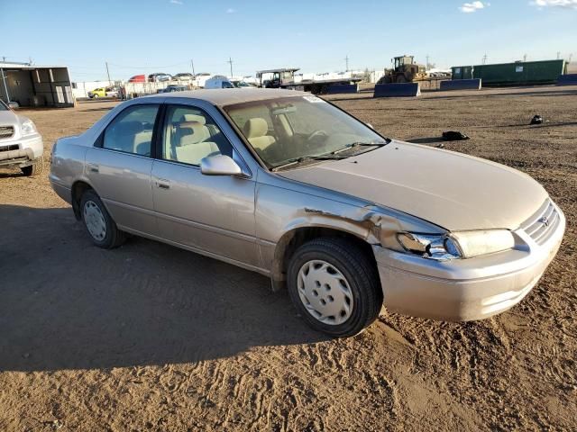
M 543 186 L 508 166 L 400 141 L 278 174 L 449 230 L 517 229 L 547 198 Z

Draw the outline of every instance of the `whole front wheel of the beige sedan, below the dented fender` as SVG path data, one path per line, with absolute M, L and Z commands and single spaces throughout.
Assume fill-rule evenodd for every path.
M 313 329 L 345 338 L 379 316 L 379 273 L 367 253 L 351 241 L 316 238 L 305 243 L 291 257 L 288 273 L 290 300 Z

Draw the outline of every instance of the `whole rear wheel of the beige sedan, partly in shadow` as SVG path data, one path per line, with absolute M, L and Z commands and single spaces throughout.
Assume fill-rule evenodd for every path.
M 124 243 L 126 235 L 116 227 L 96 192 L 87 190 L 80 200 L 80 215 L 88 237 L 97 247 L 112 249 Z

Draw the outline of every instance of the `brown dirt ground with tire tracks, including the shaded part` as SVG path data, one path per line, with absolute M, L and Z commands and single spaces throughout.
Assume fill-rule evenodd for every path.
M 1 170 L 0 430 L 576 430 L 577 87 L 331 99 L 393 138 L 462 130 L 445 148 L 544 184 L 568 228 L 533 292 L 490 320 L 383 310 L 330 340 L 261 275 L 142 238 L 91 246 L 47 170 Z M 113 105 L 22 112 L 48 160 Z

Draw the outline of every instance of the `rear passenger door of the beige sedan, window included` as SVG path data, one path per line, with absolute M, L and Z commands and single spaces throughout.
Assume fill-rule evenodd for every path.
M 128 106 L 87 151 L 87 177 L 120 229 L 157 234 L 151 154 L 159 112 L 159 103 Z

